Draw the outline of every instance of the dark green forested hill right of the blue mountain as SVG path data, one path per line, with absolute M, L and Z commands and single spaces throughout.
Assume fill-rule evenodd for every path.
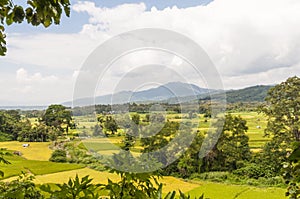
M 273 86 L 252 86 L 239 90 L 228 90 L 226 91 L 226 100 L 229 103 L 235 102 L 263 102 L 267 96 L 268 90 Z M 220 94 L 213 94 L 211 99 L 218 99 Z M 200 97 L 201 99 L 201 97 Z M 210 99 L 209 97 L 202 98 Z

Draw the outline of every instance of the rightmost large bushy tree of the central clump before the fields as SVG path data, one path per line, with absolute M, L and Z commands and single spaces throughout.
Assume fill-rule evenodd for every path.
M 222 123 L 224 125 L 220 126 L 219 124 Z M 228 114 L 225 118 L 218 119 L 215 126 L 221 128 L 217 130 L 217 132 L 221 132 L 221 135 L 217 144 L 203 158 L 202 170 L 235 170 L 239 168 L 241 162 L 247 161 L 251 157 L 249 137 L 246 135 L 248 130 L 246 120 L 240 116 Z M 213 137 L 213 135 L 208 136 Z

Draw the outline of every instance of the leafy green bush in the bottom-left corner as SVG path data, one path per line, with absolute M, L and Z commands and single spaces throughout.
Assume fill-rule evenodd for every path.
M 18 179 L 11 182 L 0 182 L 0 198 L 3 199 L 40 199 L 44 198 L 36 185 L 33 176 L 22 173 Z

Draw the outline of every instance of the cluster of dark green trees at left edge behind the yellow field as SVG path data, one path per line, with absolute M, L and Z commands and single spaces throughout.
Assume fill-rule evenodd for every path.
M 69 128 L 75 128 L 72 114 L 62 105 L 49 106 L 34 122 L 17 110 L 0 111 L 0 141 L 53 141 Z

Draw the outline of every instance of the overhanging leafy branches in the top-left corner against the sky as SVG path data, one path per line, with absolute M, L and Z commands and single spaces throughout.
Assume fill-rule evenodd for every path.
M 28 0 L 26 8 L 16 5 L 13 0 L 0 1 L 0 56 L 4 56 L 6 48 L 4 25 L 22 23 L 24 20 L 32 26 L 59 24 L 62 13 L 70 16 L 69 0 Z

